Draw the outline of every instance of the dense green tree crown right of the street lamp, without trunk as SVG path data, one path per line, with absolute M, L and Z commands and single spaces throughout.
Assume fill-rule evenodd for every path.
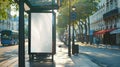
M 78 15 L 77 20 L 85 21 L 88 16 L 97 10 L 97 2 L 93 0 L 79 0 L 75 3 L 75 7 Z

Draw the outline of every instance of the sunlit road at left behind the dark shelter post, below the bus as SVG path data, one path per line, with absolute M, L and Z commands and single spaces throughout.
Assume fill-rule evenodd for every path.
M 25 52 L 27 53 L 27 49 Z M 0 67 L 12 67 L 14 63 L 18 63 L 18 45 L 0 46 Z

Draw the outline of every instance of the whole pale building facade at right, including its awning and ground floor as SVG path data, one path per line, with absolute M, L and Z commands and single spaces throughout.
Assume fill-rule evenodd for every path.
M 120 28 L 120 0 L 101 0 L 99 10 L 90 16 L 91 30 L 100 43 L 120 45 L 120 32 L 111 33 Z

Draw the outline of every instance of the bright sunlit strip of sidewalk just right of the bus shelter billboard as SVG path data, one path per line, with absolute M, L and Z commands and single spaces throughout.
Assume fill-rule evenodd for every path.
M 61 45 L 61 47 L 59 47 L 59 45 Z M 58 42 L 56 46 L 57 53 L 54 58 L 56 67 L 75 67 L 72 59 L 68 56 L 67 46 L 61 42 Z

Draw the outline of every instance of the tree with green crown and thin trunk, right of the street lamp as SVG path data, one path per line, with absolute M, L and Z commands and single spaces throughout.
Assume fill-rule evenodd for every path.
M 88 22 L 86 20 L 86 18 L 88 18 L 94 11 L 97 10 L 97 3 L 98 1 L 94 1 L 94 0 L 79 0 L 77 2 L 75 2 L 75 6 L 76 6 L 76 12 L 77 12 L 77 21 L 81 22 L 82 25 L 84 26 L 85 32 L 81 33 L 84 34 L 85 36 L 85 40 L 86 41 L 86 37 L 87 37 L 87 32 L 88 30 Z M 83 37 L 82 37 L 83 38 Z

